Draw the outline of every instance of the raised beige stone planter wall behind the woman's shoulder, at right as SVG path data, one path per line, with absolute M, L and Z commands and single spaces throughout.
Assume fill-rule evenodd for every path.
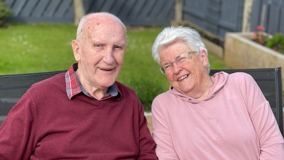
M 281 67 L 284 90 L 284 54 L 252 41 L 253 33 L 227 33 L 224 61 L 231 69 Z

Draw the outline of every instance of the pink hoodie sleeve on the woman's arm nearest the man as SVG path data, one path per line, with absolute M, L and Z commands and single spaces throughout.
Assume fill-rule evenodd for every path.
M 153 138 L 159 160 L 179 160 L 172 141 L 172 135 L 157 98 L 152 104 Z

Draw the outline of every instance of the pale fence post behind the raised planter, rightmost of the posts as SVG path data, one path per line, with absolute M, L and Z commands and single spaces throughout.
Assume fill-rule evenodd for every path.
M 254 0 L 244 0 L 242 32 L 250 32 L 252 4 Z

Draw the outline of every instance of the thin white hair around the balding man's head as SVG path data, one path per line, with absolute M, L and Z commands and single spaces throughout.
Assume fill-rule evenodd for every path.
M 83 33 L 84 33 L 84 25 L 86 23 L 86 21 L 89 19 L 89 18 L 92 18 L 92 17 L 100 17 L 100 16 L 106 16 L 106 17 L 110 17 L 110 18 L 113 18 L 114 20 L 117 20 L 118 22 L 121 23 L 122 27 L 123 27 L 123 30 L 124 30 L 124 33 L 125 33 L 125 36 L 126 36 L 126 27 L 125 25 L 123 24 L 123 22 L 121 22 L 121 20 L 119 18 L 117 18 L 115 15 L 111 14 L 111 13 L 108 13 L 108 12 L 96 12 L 96 13 L 89 13 L 85 16 L 83 16 L 79 22 L 79 25 L 78 25 L 78 28 L 77 28 L 77 35 L 76 35 L 76 40 L 78 40 L 79 38 L 82 37 Z

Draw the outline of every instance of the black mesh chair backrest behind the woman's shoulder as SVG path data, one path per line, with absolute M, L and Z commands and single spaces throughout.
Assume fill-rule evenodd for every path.
M 270 107 L 277 120 L 279 129 L 283 135 L 283 106 L 282 106 L 282 81 L 281 68 L 269 69 L 245 69 L 245 70 L 210 70 L 210 75 L 224 71 L 228 74 L 245 72 L 251 75 L 258 84 L 263 95 L 269 101 Z

